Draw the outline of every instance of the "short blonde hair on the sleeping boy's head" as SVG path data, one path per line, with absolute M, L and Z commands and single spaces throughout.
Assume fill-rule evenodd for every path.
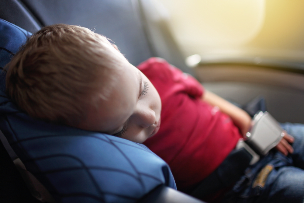
M 113 51 L 87 28 L 46 26 L 5 67 L 6 92 L 30 116 L 76 127 L 88 105 L 111 92 L 111 67 L 119 64 Z

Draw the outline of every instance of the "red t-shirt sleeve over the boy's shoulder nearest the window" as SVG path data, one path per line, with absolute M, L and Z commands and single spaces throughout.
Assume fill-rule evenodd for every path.
M 163 58 L 153 57 L 138 65 L 156 89 L 166 87 L 174 88 L 173 91 L 181 91 L 192 97 L 201 97 L 204 88 L 192 75 L 182 72 L 169 64 Z M 157 88 L 157 86 L 161 86 Z

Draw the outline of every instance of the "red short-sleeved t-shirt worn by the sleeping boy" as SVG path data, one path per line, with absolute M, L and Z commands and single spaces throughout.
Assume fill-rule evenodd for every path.
M 138 68 L 157 89 L 161 126 L 145 144 L 170 166 L 178 190 L 186 191 L 212 173 L 235 148 L 240 132 L 230 117 L 200 98 L 202 85 L 161 58 Z

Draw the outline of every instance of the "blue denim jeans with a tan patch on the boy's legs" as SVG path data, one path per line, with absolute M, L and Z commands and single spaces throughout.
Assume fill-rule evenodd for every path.
M 223 202 L 304 202 L 304 124 L 285 123 L 282 128 L 295 138 L 294 153 L 272 150 L 245 170 Z

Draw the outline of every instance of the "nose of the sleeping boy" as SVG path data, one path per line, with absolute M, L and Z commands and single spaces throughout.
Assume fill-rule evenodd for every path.
M 139 109 L 136 112 L 136 114 L 137 114 L 136 116 L 137 123 L 143 128 L 148 128 L 149 126 L 153 125 L 156 121 L 155 111 L 150 108 Z

